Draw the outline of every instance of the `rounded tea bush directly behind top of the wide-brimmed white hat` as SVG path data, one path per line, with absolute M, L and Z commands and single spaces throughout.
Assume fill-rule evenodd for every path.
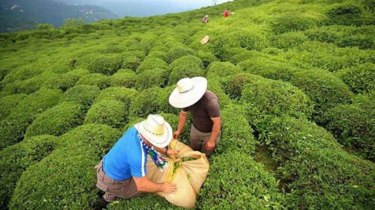
M 171 63 L 170 68 L 172 72 L 169 75 L 168 85 L 174 85 L 185 77 L 204 76 L 202 60 L 193 55 L 176 59 Z

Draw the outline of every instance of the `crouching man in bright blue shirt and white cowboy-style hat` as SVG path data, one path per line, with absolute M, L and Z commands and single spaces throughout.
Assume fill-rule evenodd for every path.
M 172 140 L 172 128 L 160 115 L 149 115 L 147 120 L 129 128 L 95 167 L 96 186 L 105 192 L 100 207 L 119 198 L 132 198 L 144 192 L 175 193 L 177 186 L 169 182 L 148 180 L 147 155 L 157 168 L 167 166 L 161 154 L 177 154 L 165 147 Z

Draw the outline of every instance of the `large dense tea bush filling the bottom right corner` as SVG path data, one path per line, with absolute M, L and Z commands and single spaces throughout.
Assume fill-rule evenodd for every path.
M 288 208 L 372 208 L 373 163 L 346 153 L 332 135 L 305 119 L 274 118 L 265 130 L 263 144 L 280 163 Z

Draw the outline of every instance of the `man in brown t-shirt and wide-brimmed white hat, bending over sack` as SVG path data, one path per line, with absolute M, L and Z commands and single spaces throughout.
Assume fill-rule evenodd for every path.
M 169 96 L 169 103 L 181 108 L 178 128 L 173 134 L 177 139 L 185 125 L 187 114 L 193 114 L 190 129 L 190 147 L 210 156 L 220 141 L 220 107 L 217 96 L 207 89 L 204 77 L 184 78 Z

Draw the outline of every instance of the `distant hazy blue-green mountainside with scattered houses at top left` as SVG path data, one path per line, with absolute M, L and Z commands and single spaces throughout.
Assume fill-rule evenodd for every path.
M 51 0 L 0 0 L 0 32 L 35 29 L 38 23 L 62 26 L 63 20 L 82 18 L 86 23 L 118 18 L 94 5 L 66 5 Z

